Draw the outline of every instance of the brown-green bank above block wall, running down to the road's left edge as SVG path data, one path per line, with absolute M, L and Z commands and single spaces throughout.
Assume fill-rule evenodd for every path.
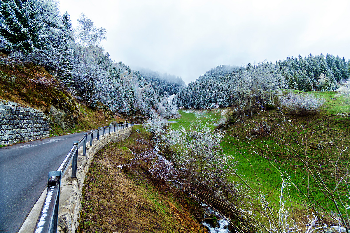
M 97 129 L 109 125 L 111 121 L 124 121 L 119 117 L 112 118 L 112 112 L 104 105 L 92 110 L 78 104 L 43 67 L 33 64 L 0 60 L 0 99 L 41 110 L 47 115 L 51 105 L 69 111 L 76 121 L 75 126 L 62 129 L 56 124 L 50 136 Z

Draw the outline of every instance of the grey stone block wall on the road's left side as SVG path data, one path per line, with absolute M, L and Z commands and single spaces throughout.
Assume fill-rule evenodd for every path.
M 0 100 L 0 145 L 47 138 L 49 131 L 42 111 Z

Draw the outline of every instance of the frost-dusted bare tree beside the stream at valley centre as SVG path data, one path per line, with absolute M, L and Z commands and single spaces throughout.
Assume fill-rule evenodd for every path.
M 232 184 L 227 179 L 227 156 L 220 147 L 223 131 L 211 131 L 208 124 L 195 121 L 189 127 L 169 132 L 170 138 L 179 146 L 175 164 L 186 171 L 188 183 L 196 195 L 208 191 L 220 193 L 231 190 Z M 211 193 L 213 194 L 213 193 Z

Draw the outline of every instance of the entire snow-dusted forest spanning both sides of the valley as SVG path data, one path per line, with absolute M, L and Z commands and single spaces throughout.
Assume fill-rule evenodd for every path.
M 188 86 L 179 77 L 145 68 L 132 71 L 100 46 L 107 30 L 83 13 L 77 28 L 52 0 L 0 3 L 2 60 L 39 64 L 87 107 L 97 103 L 126 115 L 176 115 L 176 106 L 226 108 L 252 114 L 274 104 L 277 89 L 332 91 L 350 76 L 350 61 L 323 54 L 246 66 L 218 65 Z M 153 110 L 152 110 L 153 109 Z

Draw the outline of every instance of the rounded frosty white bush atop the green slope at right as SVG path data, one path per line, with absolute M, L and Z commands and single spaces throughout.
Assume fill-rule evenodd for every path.
M 310 94 L 289 93 L 281 99 L 282 107 L 287 107 L 290 113 L 298 116 L 310 115 L 319 111 L 324 102 L 324 98 L 318 98 Z

